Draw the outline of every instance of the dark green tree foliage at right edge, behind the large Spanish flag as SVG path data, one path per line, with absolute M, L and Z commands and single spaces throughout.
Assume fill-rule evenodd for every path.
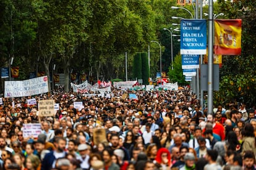
M 220 9 L 228 18 L 242 18 L 242 54 L 223 56 L 220 70 L 220 91 L 215 101 L 221 103 L 242 102 L 247 108 L 256 102 L 256 2 L 219 0 Z

